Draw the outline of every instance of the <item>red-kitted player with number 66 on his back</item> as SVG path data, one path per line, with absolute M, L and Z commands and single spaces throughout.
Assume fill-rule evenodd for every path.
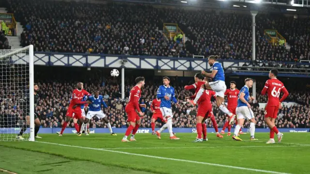
M 275 120 L 278 116 L 279 109 L 282 108 L 282 102 L 289 95 L 289 92 L 284 87 L 283 83 L 277 79 L 278 71 L 272 69 L 269 72 L 269 80 L 266 81 L 265 87 L 262 90 L 262 95 L 267 93 L 268 102 L 265 107 L 265 122 L 270 128 L 270 139 L 266 144 L 274 144 L 275 133 L 278 135 L 278 142 L 280 143 L 283 137 L 283 133 L 279 132 Z M 279 100 L 280 92 L 283 92 L 282 98 Z

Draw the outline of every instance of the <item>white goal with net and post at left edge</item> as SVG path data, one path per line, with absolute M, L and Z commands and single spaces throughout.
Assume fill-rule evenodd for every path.
M 33 45 L 0 50 L 0 141 L 34 141 L 33 83 Z

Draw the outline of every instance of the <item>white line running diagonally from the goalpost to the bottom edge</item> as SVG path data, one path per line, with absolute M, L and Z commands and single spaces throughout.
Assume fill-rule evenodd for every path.
M 268 173 L 268 174 L 289 174 L 289 173 L 281 173 L 281 172 L 274 172 L 274 171 L 267 171 L 267 170 L 260 170 L 260 169 L 251 169 L 251 168 L 236 167 L 236 166 L 230 166 L 230 165 L 222 165 L 222 164 L 209 163 L 209 162 L 199 162 L 199 161 L 193 161 L 193 160 L 182 160 L 182 159 L 157 157 L 157 156 L 151 156 L 151 155 L 135 154 L 135 153 L 128 153 L 128 152 L 108 150 L 108 149 L 82 147 L 82 146 L 76 146 L 76 145 L 63 145 L 63 144 L 49 143 L 49 142 L 38 142 L 38 141 L 36 141 L 36 142 L 37 143 L 50 144 L 50 145 L 60 145 L 60 146 L 77 147 L 77 148 L 90 149 L 90 150 L 114 152 L 114 153 L 126 154 L 126 155 L 131 155 L 131 156 L 140 156 L 140 157 L 155 158 L 155 159 L 161 159 L 161 160 L 174 160 L 174 161 L 190 162 L 190 163 L 196 163 L 196 164 L 205 164 L 205 165 L 210 165 L 210 166 L 226 167 L 226 168 L 239 169 L 239 170 L 248 170 L 248 171 L 262 172 L 262 173 Z

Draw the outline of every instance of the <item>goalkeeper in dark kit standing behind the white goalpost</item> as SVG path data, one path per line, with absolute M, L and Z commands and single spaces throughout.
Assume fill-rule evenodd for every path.
M 38 84 L 34 84 L 34 108 L 37 107 L 37 103 L 39 102 L 39 87 Z M 18 140 L 25 140 L 23 138 L 23 133 L 27 130 L 27 125 L 30 125 L 30 98 L 29 94 L 26 96 L 26 103 L 23 105 L 26 108 L 26 124 L 23 124 L 22 129 L 20 132 L 17 134 L 16 139 Z M 35 138 L 42 138 L 37 135 L 40 126 L 41 126 L 41 121 L 39 119 L 39 114 L 34 112 L 34 137 Z

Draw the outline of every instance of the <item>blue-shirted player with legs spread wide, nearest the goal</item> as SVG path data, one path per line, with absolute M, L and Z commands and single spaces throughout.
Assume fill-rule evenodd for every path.
M 99 119 L 103 119 L 106 122 L 111 135 L 116 135 L 112 131 L 112 127 L 107 116 L 101 110 L 101 104 L 103 104 L 105 108 L 108 108 L 108 105 L 106 104 L 106 102 L 104 102 L 102 95 L 99 95 L 99 91 L 96 90 L 95 94 L 93 96 L 90 96 L 87 100 L 91 101 L 92 103 L 89 104 L 89 110 L 84 120 L 84 123 L 82 124 L 82 128 L 84 127 L 84 129 L 86 129 L 89 120 L 92 119 L 93 116 L 97 116 Z M 81 136 L 81 134 L 82 132 L 80 131 L 79 136 Z

